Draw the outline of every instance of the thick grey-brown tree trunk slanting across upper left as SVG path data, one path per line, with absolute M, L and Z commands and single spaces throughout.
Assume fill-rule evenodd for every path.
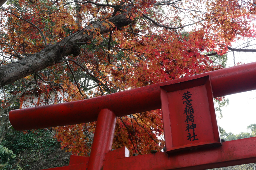
M 127 15 L 127 12 L 124 12 L 120 15 L 108 19 L 108 21 L 114 23 L 115 27 L 121 28 L 132 22 L 129 19 L 130 17 L 127 17 Z M 103 26 L 103 23 L 106 23 L 106 21 L 94 22 L 83 30 L 69 35 L 57 44 L 48 45 L 46 48 L 36 54 L 32 54 L 29 57 L 26 57 L 17 62 L 0 66 L 0 88 L 9 83 L 13 83 L 19 79 L 22 79 L 27 75 L 33 74 L 36 71 L 40 71 L 49 66 L 52 66 L 56 63 L 56 61 L 62 59 L 65 56 L 71 54 L 77 56 L 78 52 L 80 52 L 81 45 L 77 43 L 88 42 L 93 38 L 93 34 L 96 32 L 96 30 L 101 34 L 104 34 L 113 28 L 107 28 Z

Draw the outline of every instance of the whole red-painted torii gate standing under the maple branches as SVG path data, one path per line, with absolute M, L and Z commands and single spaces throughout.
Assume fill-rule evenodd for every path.
M 200 87 L 200 89 L 198 87 Z M 196 89 L 194 90 L 194 88 Z M 213 97 L 215 98 L 254 89 L 256 89 L 256 62 L 86 100 L 12 110 L 10 111 L 9 119 L 16 130 L 46 128 L 97 120 L 90 157 L 71 155 L 69 166 L 50 168 L 52 170 L 209 169 L 256 162 L 256 137 L 226 141 L 220 146 L 219 132 L 218 130 L 216 131 L 217 122 L 214 120 L 216 118 L 213 117 L 215 113 L 212 113 L 211 102 Z M 202 108 L 208 108 L 210 110 L 209 116 L 211 116 L 210 123 L 212 124 L 212 130 L 208 129 L 210 131 L 208 134 L 214 134 L 209 137 L 212 138 L 211 141 L 208 140 L 208 138 L 202 137 L 202 139 L 206 141 L 200 142 L 198 140 L 199 142 L 197 143 L 191 141 L 192 147 L 187 147 L 190 143 L 187 139 L 188 143 L 179 146 L 175 143 L 176 136 L 168 134 L 170 135 L 170 138 L 168 138 L 167 141 L 165 132 L 166 149 L 168 153 L 157 152 L 154 154 L 151 153 L 129 157 L 129 151 L 125 147 L 111 151 L 117 116 L 160 108 L 162 108 L 164 112 L 164 110 L 168 109 L 168 103 L 167 105 L 163 103 L 166 103 L 167 100 L 172 100 L 168 98 L 168 95 L 173 96 L 173 92 L 175 92 L 175 94 L 180 93 L 179 90 L 183 90 L 182 93 L 185 90 L 184 94 L 186 92 L 190 93 L 191 91 L 191 99 L 194 100 L 193 104 L 198 108 L 201 107 L 199 104 L 204 102 L 202 100 L 200 101 L 200 98 L 208 98 L 209 101 L 206 101 L 204 103 L 205 106 Z M 200 95 L 194 95 L 193 90 L 195 91 L 195 94 Z M 187 93 L 187 95 L 191 95 L 189 93 Z M 182 97 L 184 99 L 186 98 L 184 96 Z M 166 100 L 165 98 L 168 99 Z M 189 100 L 190 97 L 187 97 L 186 101 Z M 183 102 L 183 104 L 185 102 L 182 100 L 180 101 Z M 169 110 L 170 109 L 172 109 L 172 107 L 169 107 Z M 183 110 L 184 108 L 181 109 Z M 166 116 L 166 113 L 164 113 L 164 115 Z M 181 113 L 181 115 L 184 116 L 183 113 Z M 169 114 L 167 116 L 172 115 Z M 203 116 L 203 114 L 201 114 L 201 116 Z M 196 121 L 199 125 L 205 125 L 204 123 L 200 124 L 200 122 L 204 121 L 199 122 L 199 119 Z M 168 133 L 170 132 L 169 124 L 172 124 L 172 121 L 169 121 L 164 117 L 164 130 Z M 185 138 L 187 137 L 188 136 L 185 136 Z M 186 148 L 184 148 L 183 145 L 186 145 Z M 210 145 L 211 147 L 198 148 L 201 147 L 201 145 Z M 170 153 L 175 151 L 175 149 L 184 151 Z

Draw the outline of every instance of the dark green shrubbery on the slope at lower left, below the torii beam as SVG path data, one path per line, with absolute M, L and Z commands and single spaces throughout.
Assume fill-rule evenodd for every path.
M 53 138 L 53 134 L 49 129 L 38 129 L 33 131 L 13 131 L 9 132 L 2 142 L 3 146 L 0 145 L 0 170 L 2 169 L 13 169 L 18 170 L 31 169 L 31 163 L 42 164 L 41 162 L 49 162 L 48 165 L 42 165 L 39 169 L 50 168 L 56 165 L 53 161 L 56 161 L 59 155 L 54 155 L 55 160 L 51 160 L 52 153 L 59 151 L 60 144 L 57 139 Z M 4 156 L 2 156 L 4 155 Z M 19 155 L 18 159 L 17 156 Z M 2 159 L 3 158 L 3 159 Z M 29 161 L 29 163 L 28 163 Z M 17 165 L 16 165 L 17 164 Z M 16 165 L 15 167 L 13 167 Z M 45 167 L 46 166 L 46 167 Z M 63 164 L 61 164 L 63 166 Z

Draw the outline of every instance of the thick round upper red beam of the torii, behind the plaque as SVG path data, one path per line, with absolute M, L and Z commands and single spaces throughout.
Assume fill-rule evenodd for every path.
M 160 109 L 159 86 L 207 75 L 214 97 L 256 89 L 256 62 L 253 62 L 86 100 L 12 110 L 9 119 L 16 130 L 29 130 L 93 122 L 104 108 L 112 110 L 116 116 Z

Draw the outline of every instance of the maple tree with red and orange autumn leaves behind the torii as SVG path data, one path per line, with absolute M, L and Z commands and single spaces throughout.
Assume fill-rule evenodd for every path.
M 58 96 L 57 87 L 73 96 L 68 102 L 220 69 L 210 56 L 249 51 L 231 43 L 255 38 L 247 0 L 10 0 L 0 10 L 0 86 L 11 84 L 16 97 L 43 91 L 36 105 Z M 10 103 L 1 104 L 8 115 Z M 94 129 L 55 128 L 79 155 L 88 155 Z M 113 149 L 121 146 L 136 154 L 163 148 L 161 111 L 119 117 Z

